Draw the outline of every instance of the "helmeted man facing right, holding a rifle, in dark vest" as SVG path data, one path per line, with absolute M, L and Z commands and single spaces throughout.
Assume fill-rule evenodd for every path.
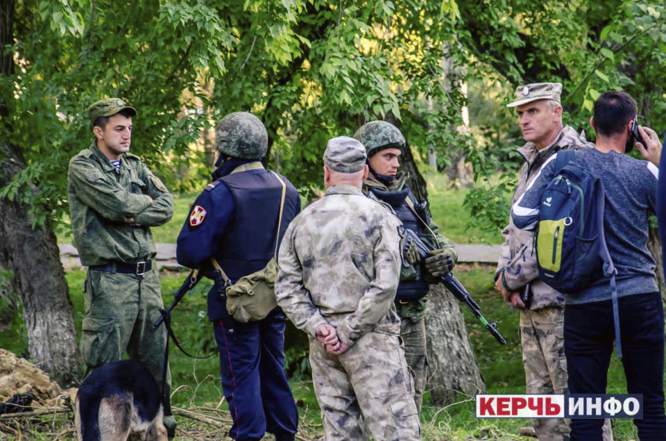
M 425 306 L 429 283 L 438 283 L 438 277 L 453 269 L 456 251 L 453 242 L 438 234 L 425 203 L 416 200 L 407 185 L 408 174 L 398 172 L 398 158 L 405 147 L 404 136 L 397 127 L 385 121 L 372 121 L 357 130 L 354 138 L 366 147 L 368 177 L 363 183 L 364 193 L 393 207 L 405 228 L 416 232 L 419 238 L 434 249 L 423 267 L 403 260 L 400 267 L 400 285 L 395 294 L 395 308 L 400 315 L 400 335 L 404 340 L 404 356 L 414 379 L 414 401 L 420 410 L 426 375 Z

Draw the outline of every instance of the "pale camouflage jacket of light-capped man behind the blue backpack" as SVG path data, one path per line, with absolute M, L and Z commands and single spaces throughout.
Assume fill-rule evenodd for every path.
M 513 192 L 511 205 L 522 195 L 527 184 L 549 157 L 563 149 L 593 147 L 586 142 L 585 135 L 578 135 L 570 126 L 564 126 L 558 138 L 547 149 L 538 151 L 533 142 L 527 142 L 518 149 L 525 163 L 520 168 L 518 184 Z M 497 262 L 495 277 L 502 277 L 504 288 L 509 291 L 531 290 L 530 310 L 547 306 L 564 306 L 564 295 L 540 281 L 536 260 L 536 238 L 532 231 L 519 230 L 509 216 L 509 225 L 502 230 L 504 244 Z M 504 274 L 502 274 L 502 272 Z

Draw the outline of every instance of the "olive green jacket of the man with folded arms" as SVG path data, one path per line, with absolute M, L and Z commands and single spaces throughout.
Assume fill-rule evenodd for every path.
M 173 216 L 173 198 L 162 181 L 138 156 L 123 153 L 120 160 L 118 172 L 93 142 L 69 161 L 69 213 L 83 265 L 153 258 L 155 244 L 149 227 Z M 125 222 L 132 218 L 133 224 Z

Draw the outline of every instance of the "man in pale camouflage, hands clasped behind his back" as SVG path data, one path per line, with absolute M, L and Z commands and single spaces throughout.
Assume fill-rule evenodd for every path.
M 357 140 L 341 136 L 328 142 L 325 196 L 284 234 L 275 294 L 309 336 L 326 439 L 418 440 L 418 412 L 393 305 L 400 220 L 361 192 L 365 162 Z

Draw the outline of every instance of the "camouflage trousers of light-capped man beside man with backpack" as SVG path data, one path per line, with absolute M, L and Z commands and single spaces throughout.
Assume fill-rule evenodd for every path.
M 566 394 L 567 358 L 564 355 L 564 308 L 549 307 L 520 311 L 522 364 L 525 392 Z M 570 421 L 563 418 L 533 418 L 539 440 L 569 440 Z M 604 422 L 604 441 L 612 441 L 610 420 Z

